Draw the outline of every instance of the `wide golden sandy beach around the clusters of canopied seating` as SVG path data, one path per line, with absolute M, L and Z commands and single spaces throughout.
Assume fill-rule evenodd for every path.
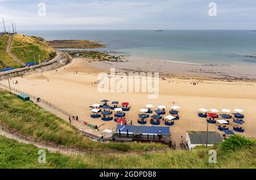
M 156 64 L 159 67 L 159 71 L 171 71 L 175 74 L 175 67 L 169 69 L 169 66 L 166 67 L 167 62 L 156 62 Z M 193 79 L 191 77 L 166 78 L 166 80 L 159 81 L 159 97 L 155 99 L 149 99 L 148 93 L 98 92 L 97 84 L 92 84 L 92 82 L 97 81 L 98 73 L 109 72 L 109 67 L 116 66 L 117 63 L 115 62 L 90 62 L 89 59 L 76 58 L 73 59 L 72 63 L 59 68 L 57 71 L 47 71 L 26 75 L 23 78 L 13 78 L 11 79 L 11 86 L 44 98 L 69 113 L 77 114 L 86 122 L 100 127 L 101 131 L 106 128 L 114 130 L 117 124 L 114 121 L 103 122 L 100 118 L 90 118 L 89 106 L 107 99 L 110 102 L 130 102 L 131 110 L 126 113 L 126 118 L 132 119 L 133 125 L 138 125 L 137 118 L 139 110 L 146 108 L 146 104 L 154 105 L 154 110 L 157 109 L 158 105 L 166 105 L 167 110 L 173 105 L 180 106 L 180 120 L 175 121 L 175 125 L 170 127 L 172 138 L 176 143 L 180 142 L 180 136 L 182 135 L 184 137 L 185 131 L 187 130 L 207 130 L 205 118 L 199 118 L 197 116 L 197 109 L 200 108 L 215 108 L 218 110 L 224 108 L 231 110 L 236 108 L 243 109 L 243 114 L 245 114 L 245 124 L 243 125 L 245 132 L 240 134 L 247 137 L 256 137 L 255 82 L 241 82 L 238 80 L 224 82 L 220 79 L 207 80 L 206 78 Z M 133 69 L 131 66 L 135 67 L 130 62 L 118 63 L 118 67 L 124 68 L 117 71 L 131 70 Z M 147 66 L 136 64 L 136 68 L 141 71 L 143 71 L 143 68 L 147 68 L 150 71 L 151 69 L 149 67 L 155 68 L 155 66 L 153 63 L 148 63 Z M 176 69 L 178 68 L 179 65 L 177 65 Z M 242 67 L 236 68 L 239 69 Z M 77 74 L 76 71 L 78 72 Z M 196 76 L 191 71 L 188 71 L 188 74 Z M 245 73 L 244 70 L 240 72 Z M 183 76 L 186 77 L 186 74 Z M 16 80 L 18 80 L 18 84 L 13 83 Z M 192 85 L 191 82 L 198 82 L 198 84 Z M 1 83 L 8 84 L 7 80 L 3 80 Z M 149 121 L 147 122 L 147 126 L 150 126 Z M 232 129 L 232 126 L 230 126 L 230 129 Z M 209 130 L 220 132 L 217 130 L 217 125 L 209 125 Z

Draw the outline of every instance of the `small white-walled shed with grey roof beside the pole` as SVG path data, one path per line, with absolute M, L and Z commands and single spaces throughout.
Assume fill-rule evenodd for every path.
M 206 142 L 208 146 L 221 143 L 222 138 L 221 135 L 215 131 L 208 131 L 208 140 L 207 131 L 187 131 L 186 142 L 189 150 L 191 150 L 197 145 L 206 145 Z

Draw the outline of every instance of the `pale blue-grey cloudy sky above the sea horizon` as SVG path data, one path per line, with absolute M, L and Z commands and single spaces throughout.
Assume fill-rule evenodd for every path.
M 209 15 L 212 2 L 216 16 Z M 0 31 L 2 18 L 6 28 L 13 20 L 19 30 L 256 29 L 256 1 L 0 0 Z

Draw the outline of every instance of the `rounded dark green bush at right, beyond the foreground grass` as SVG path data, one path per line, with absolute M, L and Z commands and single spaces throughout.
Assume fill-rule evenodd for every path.
M 255 144 L 252 140 L 246 139 L 240 135 L 229 136 L 224 142 L 221 143 L 222 151 L 236 151 L 237 149 L 249 148 Z

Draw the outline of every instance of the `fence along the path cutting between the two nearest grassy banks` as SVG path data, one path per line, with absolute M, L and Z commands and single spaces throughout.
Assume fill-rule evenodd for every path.
M 135 153 L 135 154 L 146 154 L 146 153 L 158 153 L 158 152 L 167 152 L 168 149 L 145 149 L 145 150 L 127 150 L 127 151 L 119 151 L 116 149 L 83 149 L 82 147 L 75 147 L 73 145 L 61 145 L 53 142 L 47 142 L 47 140 L 33 138 L 31 136 L 22 135 L 19 132 L 13 130 L 12 128 L 5 127 L 0 125 L 2 131 L 5 131 L 9 134 L 17 136 L 19 139 L 24 139 L 26 142 L 32 142 L 38 145 L 42 145 L 43 147 L 48 148 L 56 148 L 59 151 L 71 152 L 72 154 L 117 154 L 117 153 Z

